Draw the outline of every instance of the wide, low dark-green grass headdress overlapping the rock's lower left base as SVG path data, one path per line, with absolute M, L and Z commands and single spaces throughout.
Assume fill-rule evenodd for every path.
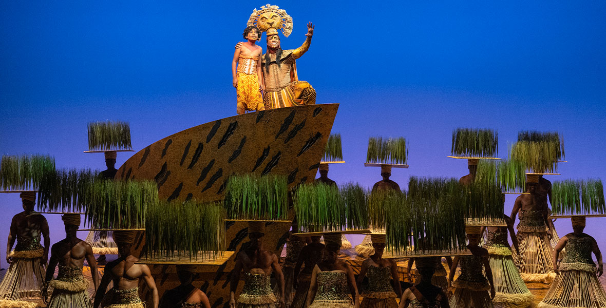
M 150 206 L 145 244 L 143 263 L 215 263 L 227 249 L 225 209 L 221 203 L 195 200 Z

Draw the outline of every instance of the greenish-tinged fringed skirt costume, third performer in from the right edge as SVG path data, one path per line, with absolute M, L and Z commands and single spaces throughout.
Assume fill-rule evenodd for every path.
M 511 258 L 511 249 L 507 241 L 507 232 L 490 232 L 484 246 L 488 250 L 490 269 L 493 272 L 494 307 L 525 308 L 532 305 L 534 295 L 520 277 L 518 268 Z

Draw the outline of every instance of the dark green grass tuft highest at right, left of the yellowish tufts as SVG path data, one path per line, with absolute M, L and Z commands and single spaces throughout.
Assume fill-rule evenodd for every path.
M 463 129 L 453 132 L 450 152 L 458 156 L 493 157 L 498 150 L 497 132 L 491 129 Z

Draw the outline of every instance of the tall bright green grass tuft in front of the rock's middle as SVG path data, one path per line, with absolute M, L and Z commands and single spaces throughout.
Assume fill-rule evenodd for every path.
M 276 175 L 233 175 L 227 180 L 225 209 L 230 219 L 288 218 L 287 179 Z

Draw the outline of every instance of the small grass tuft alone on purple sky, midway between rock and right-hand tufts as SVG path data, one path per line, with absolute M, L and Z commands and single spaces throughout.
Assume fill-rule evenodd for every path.
M 387 138 L 370 137 L 366 162 L 376 164 L 407 164 L 408 144 L 403 137 Z

